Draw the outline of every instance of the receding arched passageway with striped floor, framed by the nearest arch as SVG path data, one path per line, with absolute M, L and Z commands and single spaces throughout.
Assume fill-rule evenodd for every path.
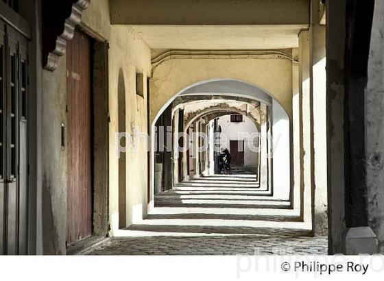
M 311 234 L 304 199 L 294 200 L 304 191 L 291 184 L 291 131 L 285 109 L 257 86 L 212 79 L 184 88 L 152 122 L 149 215 L 120 234 Z M 220 166 L 224 149 L 230 170 Z

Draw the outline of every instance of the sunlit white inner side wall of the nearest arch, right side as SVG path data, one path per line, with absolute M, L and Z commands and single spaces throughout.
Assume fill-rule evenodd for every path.
M 290 148 L 289 117 L 277 101 L 272 102 L 273 186 L 274 195 L 289 199 Z

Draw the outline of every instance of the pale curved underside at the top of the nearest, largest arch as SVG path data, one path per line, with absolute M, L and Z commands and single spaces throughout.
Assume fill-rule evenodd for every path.
M 278 102 L 274 97 L 259 86 L 251 84 L 249 82 L 245 82 L 243 80 L 237 80 L 232 78 L 213 78 L 210 80 L 204 80 L 197 82 L 195 84 L 191 84 L 186 88 L 180 90 L 180 92 L 176 93 L 165 105 L 160 108 L 154 121 L 152 122 L 152 127 L 158 120 L 161 114 L 163 114 L 165 108 L 172 103 L 176 97 L 189 96 L 189 95 L 228 95 L 235 97 L 245 97 L 248 99 L 254 99 L 256 101 L 261 101 L 262 103 L 266 103 L 267 106 L 272 106 L 272 102 L 278 104 L 282 110 L 284 110 L 285 114 L 287 112 L 281 106 L 280 102 Z

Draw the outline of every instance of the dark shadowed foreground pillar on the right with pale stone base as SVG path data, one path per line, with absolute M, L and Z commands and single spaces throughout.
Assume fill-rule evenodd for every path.
M 374 254 L 378 247 L 368 226 L 365 162 L 365 87 L 374 1 L 326 3 L 329 254 Z

